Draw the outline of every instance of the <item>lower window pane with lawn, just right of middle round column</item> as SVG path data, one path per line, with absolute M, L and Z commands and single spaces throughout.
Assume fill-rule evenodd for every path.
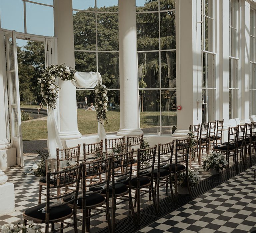
M 160 108 L 158 90 L 140 90 L 140 127 L 144 133 L 160 132 Z

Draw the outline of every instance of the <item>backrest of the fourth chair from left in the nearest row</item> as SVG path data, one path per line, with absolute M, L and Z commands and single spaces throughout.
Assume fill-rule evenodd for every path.
M 153 170 L 156 158 L 156 147 L 157 145 L 146 149 L 138 149 L 137 178 L 139 178 L 141 175 L 148 176 L 150 173 L 153 177 Z

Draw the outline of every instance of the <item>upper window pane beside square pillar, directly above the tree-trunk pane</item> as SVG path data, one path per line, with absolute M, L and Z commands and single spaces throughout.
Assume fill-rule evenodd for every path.
M 175 11 L 160 13 L 161 49 L 175 49 Z

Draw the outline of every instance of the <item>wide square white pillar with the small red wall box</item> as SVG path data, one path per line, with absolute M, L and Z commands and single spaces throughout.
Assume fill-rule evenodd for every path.
M 176 1 L 177 129 L 187 136 L 190 125 L 202 122 L 201 1 Z

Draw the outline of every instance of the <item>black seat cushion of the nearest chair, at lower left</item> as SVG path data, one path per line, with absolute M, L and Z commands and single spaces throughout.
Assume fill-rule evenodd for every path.
M 31 207 L 25 211 L 25 215 L 32 218 L 45 220 L 45 213 L 43 213 L 41 210 L 45 206 L 46 206 L 46 203 Z M 71 213 L 72 213 L 72 208 L 70 208 L 68 205 L 52 207 L 50 208 L 50 221 L 54 219 L 63 218 L 67 215 L 70 215 Z

